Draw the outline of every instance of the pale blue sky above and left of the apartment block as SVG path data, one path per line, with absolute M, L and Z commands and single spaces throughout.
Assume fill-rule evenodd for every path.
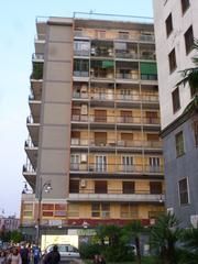
M 0 215 L 20 216 L 36 16 L 97 12 L 153 16 L 152 0 L 6 0 L 0 14 Z

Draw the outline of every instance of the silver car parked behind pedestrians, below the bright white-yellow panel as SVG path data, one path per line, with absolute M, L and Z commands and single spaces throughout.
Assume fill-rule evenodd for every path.
M 45 254 L 50 253 L 51 251 L 53 251 L 54 244 L 48 245 L 45 249 Z M 75 246 L 70 245 L 70 244 L 57 244 L 58 248 L 58 252 L 61 254 L 61 258 L 79 258 L 80 254 L 78 252 L 78 249 L 76 249 Z

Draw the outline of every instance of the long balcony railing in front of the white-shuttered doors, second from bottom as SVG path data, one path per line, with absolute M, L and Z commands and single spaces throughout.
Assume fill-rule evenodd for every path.
M 72 172 L 90 172 L 90 173 L 121 173 L 121 174 L 162 174 L 163 166 L 152 166 L 143 164 L 107 164 L 107 163 L 70 163 Z

